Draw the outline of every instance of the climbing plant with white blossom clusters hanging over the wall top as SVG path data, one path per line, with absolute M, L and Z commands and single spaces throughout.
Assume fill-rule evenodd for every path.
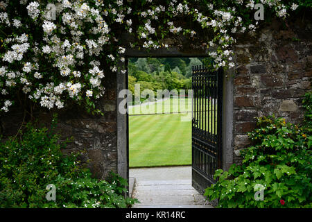
M 125 49 L 169 48 L 169 35 L 197 40 L 202 32 L 214 69 L 234 67 L 234 35 L 256 30 L 257 3 L 281 18 L 311 7 L 302 0 L 0 1 L 0 112 L 24 97 L 43 108 L 73 102 L 99 112 L 94 101 L 105 93 L 105 73 L 126 72 L 117 70 Z

